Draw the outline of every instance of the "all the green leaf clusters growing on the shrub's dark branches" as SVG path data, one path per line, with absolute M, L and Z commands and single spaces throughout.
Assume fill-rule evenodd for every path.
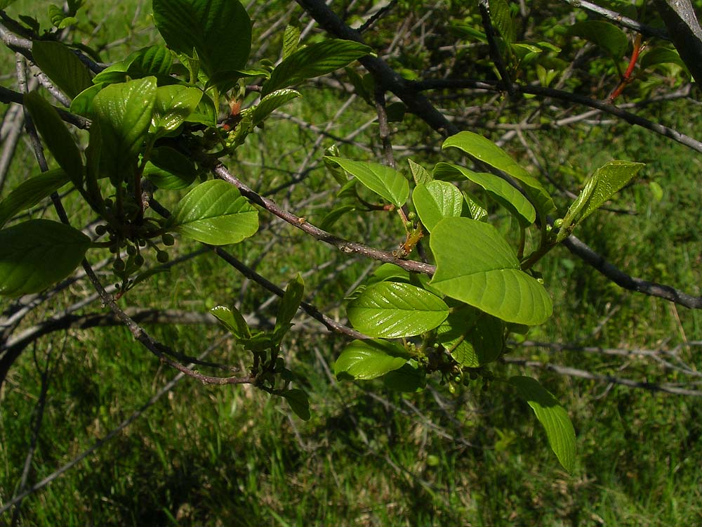
M 628 50 L 622 30 L 590 20 L 550 35 L 550 41 L 521 41 L 525 35 L 520 34 L 513 6 L 490 4 L 496 34 L 490 34 L 490 25 L 473 8 L 461 11 L 452 6 L 452 15 L 463 15 L 453 20 L 453 27 L 464 38 L 491 46 L 487 65 L 498 72 L 491 82 L 500 83 L 494 86 L 512 97 L 513 81 L 526 85 L 537 80 L 548 87 L 558 77 L 577 92 L 588 77 L 607 73 L 609 67 L 616 71 Z M 65 28 L 78 22 L 74 15 L 80 6 L 74 7 L 67 13 L 70 17 L 53 16 L 53 25 Z M 253 181 L 244 183 L 226 167 L 253 148 L 260 129 L 269 133 L 279 108 L 307 97 L 304 86 L 292 86 L 337 72 L 355 60 L 368 60 L 377 43 L 318 39 L 301 44 L 300 32 L 289 26 L 280 43 L 282 60 L 274 65 L 252 48 L 251 20 L 238 1 L 154 0 L 153 10 L 167 47 L 141 48 L 94 77 L 84 63 L 76 62 L 69 46 L 37 40 L 37 64 L 72 98 L 69 110 L 89 119 L 89 136 L 86 144 L 79 143 L 64 124 L 64 114 L 37 92 L 25 95 L 25 108 L 60 168 L 27 179 L 0 201 L 1 223 L 9 224 L 0 230 L 2 294 L 39 293 L 72 275 L 84 256 L 91 259 L 109 250 L 117 280 L 115 298 L 127 292 L 132 297 L 133 288 L 143 287 L 157 270 L 148 268 L 147 252 L 152 251 L 158 263 L 168 262 L 175 251 L 174 236 L 218 247 L 244 240 L 256 243 L 263 239 L 259 229 L 267 226 L 267 219 L 261 218 L 268 214 L 318 240 L 340 244 L 343 252 L 367 249 L 345 245 L 345 240 L 319 232 L 304 217 L 279 209 L 263 193 L 251 190 L 256 188 Z M 402 15 L 401 11 L 398 16 Z M 590 63 L 590 71 L 567 77 L 568 64 L 558 58 L 562 49 L 581 46 L 588 52 L 593 45 L 601 48 L 602 58 Z M 664 62 L 654 56 L 644 64 L 675 64 L 675 51 L 667 51 L 660 54 Z M 481 60 L 475 67 L 485 66 Z M 360 98 L 378 108 L 384 141 L 383 120 L 390 117 L 390 106 L 378 98 L 383 79 L 361 77 L 352 67 L 347 74 Z M 679 69 L 677 74 L 684 72 Z M 650 86 L 641 86 L 637 95 L 645 96 L 647 89 Z M 412 130 L 413 118 L 403 119 L 406 104 L 398 126 Z M 224 117 L 221 108 L 228 110 Z M 355 339 L 340 350 L 333 372 L 338 379 L 381 379 L 386 388 L 400 392 L 421 393 L 439 382 L 451 393 L 475 386 L 491 393 L 518 393 L 543 425 L 557 460 L 573 472 L 576 438 L 568 413 L 536 379 L 510 375 L 501 363 L 509 358 L 508 342 L 524 339 L 529 327 L 547 323 L 559 309 L 552 299 L 555 284 L 543 280 L 536 264 L 543 265 L 544 256 L 557 251 L 576 227 L 586 226 L 581 226 L 583 220 L 606 207 L 643 164 L 602 160 L 588 178 L 578 174 L 582 190 L 564 202 L 552 195 L 535 167 L 487 135 L 450 134 L 442 153 L 432 159 L 433 169 L 421 155 L 408 158 L 409 171 L 405 165 L 395 167 L 388 148 L 383 164 L 357 152 L 345 157 L 339 148 L 328 149 L 324 164 L 340 190 L 335 189 L 336 201 L 329 204 L 322 225 L 332 228 L 341 217 L 362 214 L 367 223 L 404 238 L 395 251 L 373 256 L 385 265 L 392 262 L 392 267 L 381 266 L 367 280 L 356 280 L 355 290 L 348 292 L 346 315 L 355 332 L 344 331 Z M 67 223 L 22 216 L 65 185 L 98 217 L 92 240 Z M 324 186 L 332 188 L 329 180 Z M 180 190 L 185 190 L 182 197 Z M 567 212 L 554 221 L 559 209 Z M 74 213 L 69 222 L 80 223 L 84 214 L 85 209 Z M 341 227 L 349 238 L 354 235 L 351 223 Z M 220 250 L 217 254 L 223 254 Z M 424 261 L 412 261 L 412 254 Z M 248 271 L 242 273 L 251 278 Z M 298 275 L 279 294 L 274 324 L 260 330 L 227 297 L 215 300 L 218 305 L 211 313 L 246 357 L 241 359 L 245 374 L 201 380 L 253 384 L 284 398 L 298 417 L 310 419 L 308 380 L 289 369 L 284 353 L 284 339 L 290 338 L 293 318 L 310 292 L 305 293 Z M 164 353 L 161 344 L 154 349 Z M 165 356 L 176 358 L 181 366 L 190 359 L 171 353 L 168 345 Z

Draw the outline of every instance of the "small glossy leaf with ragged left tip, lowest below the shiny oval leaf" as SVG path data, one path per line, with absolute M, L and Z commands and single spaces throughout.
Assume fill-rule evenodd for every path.
M 382 340 L 355 340 L 334 363 L 334 375 L 369 380 L 399 370 L 408 360 L 404 348 Z

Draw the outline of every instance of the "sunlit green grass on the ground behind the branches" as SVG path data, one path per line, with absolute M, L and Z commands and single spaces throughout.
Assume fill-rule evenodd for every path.
M 91 4 L 91 16 L 98 21 L 131 20 L 134 6 L 123 5 Z M 110 11 L 120 9 L 121 15 Z M 105 43 L 125 34 L 119 24 L 105 24 L 103 31 Z M 152 38 L 138 30 L 128 34 L 143 38 L 145 44 Z M 138 42 L 129 41 L 128 47 L 145 45 Z M 111 60 L 120 58 L 118 51 L 110 48 Z M 338 100 L 328 91 L 308 89 L 305 98 L 287 110 L 324 126 L 325 116 L 337 109 Z M 670 119 L 668 112 L 658 117 Z M 684 108 L 678 113 L 684 115 Z M 333 133 L 343 136 L 368 116 L 357 101 Z M 683 131 L 694 126 L 682 118 L 673 124 Z M 694 130 L 687 131 L 694 135 Z M 577 136 L 577 129 L 569 129 L 538 136 L 550 159 L 567 160 L 552 175 L 568 188 L 576 188 L 584 175 L 610 157 L 649 163 L 643 179 L 614 203 L 637 214 L 601 212 L 583 224 L 578 236 L 633 275 L 700 294 L 696 284 L 702 277 L 695 265 L 701 241 L 694 228 L 701 223 L 696 161 L 647 132 L 625 127 L 614 141 L 611 132 L 595 129 Z M 375 134 L 369 129 L 364 138 L 372 142 Z M 421 141 L 421 135 L 398 136 L 398 143 Z M 247 157 L 242 154 L 232 167 L 265 192 L 305 166 L 307 150 L 291 144 L 309 145 L 315 139 L 315 134 L 290 122 L 272 121 L 265 133 L 250 138 Z M 514 153 L 524 152 L 515 148 Z M 317 154 L 318 163 L 322 153 Z M 20 172 L 35 170 L 29 160 L 25 164 L 25 158 L 20 159 L 10 188 L 21 180 Z M 428 167 L 432 160 L 428 155 Z M 302 183 L 275 198 L 300 216 L 319 221 L 329 208 L 331 196 L 322 194 L 329 188 L 329 176 L 319 164 L 307 167 L 313 169 Z M 652 178 L 665 189 L 661 202 L 651 199 L 645 184 Z M 300 204 L 310 194 L 317 199 Z M 75 214 L 86 214 L 79 204 L 68 204 Z M 335 229 L 388 249 L 402 241 L 402 229 L 394 220 L 347 216 Z M 176 250 L 185 254 L 193 248 L 179 242 Z M 264 223 L 259 237 L 232 247 L 232 252 L 278 284 L 298 270 L 331 262 L 305 277 L 307 299 L 342 317 L 340 299 L 367 271 L 365 261 L 340 267 L 345 256 L 275 221 Z M 544 259 L 540 271 L 552 292 L 555 315 L 534 328 L 529 339 L 653 349 L 702 334 L 698 311 L 624 292 L 565 249 Z M 84 294 L 82 286 L 76 286 L 52 307 Z M 267 320 L 276 308 L 275 302 L 260 308 L 268 296 L 223 268 L 213 254 L 204 254 L 170 275 L 145 282 L 126 295 L 124 305 L 206 311 L 216 304 L 237 304 L 241 311 Z M 36 313 L 36 320 L 27 322 L 44 315 Z M 192 354 L 223 335 L 215 326 L 148 329 Z M 284 341 L 284 352 L 310 393 L 309 422 L 293 417 L 283 401 L 249 386 L 203 386 L 183 380 L 95 454 L 29 495 L 22 502 L 20 524 L 668 526 L 694 525 L 702 516 L 702 420 L 694 398 L 527 371 L 571 413 L 578 434 L 578 468 L 568 475 L 550 453 L 531 410 L 510 389 L 496 383 L 482 391 L 474 383 L 451 395 L 432 382 L 427 391 L 403 396 L 385 391 L 377 382 L 336 382 L 328 368 L 345 341 L 308 325 L 306 318 L 298 320 L 298 329 Z M 124 328 L 71 330 L 41 339 L 15 364 L 0 395 L 2 502 L 11 498 L 20 480 L 39 393 L 37 363 L 43 365 L 49 351 L 51 386 L 30 482 L 40 481 L 104 437 L 175 375 L 137 346 Z M 517 352 L 603 375 L 684 380 L 637 357 L 623 362 L 582 351 Z M 246 364 L 230 341 L 211 358 Z M 681 358 L 697 370 L 702 367 L 694 349 L 683 348 Z M 524 370 L 497 365 L 495 372 L 508 376 Z

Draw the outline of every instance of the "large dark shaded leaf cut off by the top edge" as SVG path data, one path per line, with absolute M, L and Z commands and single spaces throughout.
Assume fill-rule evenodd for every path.
M 239 70 L 251 52 L 251 19 L 237 0 L 153 0 L 154 22 L 166 44 L 192 57 L 202 70 Z

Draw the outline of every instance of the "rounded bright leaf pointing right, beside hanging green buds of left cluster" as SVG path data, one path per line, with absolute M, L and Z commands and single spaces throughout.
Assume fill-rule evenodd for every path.
M 216 179 L 190 190 L 176 207 L 168 228 L 211 245 L 249 238 L 258 230 L 258 212 L 239 190 Z

